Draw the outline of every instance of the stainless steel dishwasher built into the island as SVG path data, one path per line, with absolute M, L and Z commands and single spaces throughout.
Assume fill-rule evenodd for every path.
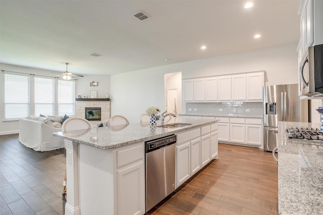
M 175 190 L 176 135 L 145 141 L 146 212 Z

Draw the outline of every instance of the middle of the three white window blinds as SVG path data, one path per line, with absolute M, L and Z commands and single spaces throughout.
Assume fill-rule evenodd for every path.
M 35 78 L 35 115 L 54 115 L 54 80 Z

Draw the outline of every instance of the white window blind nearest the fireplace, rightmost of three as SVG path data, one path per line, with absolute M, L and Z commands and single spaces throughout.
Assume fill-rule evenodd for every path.
M 59 115 L 74 115 L 74 82 L 59 80 L 58 84 L 58 106 Z

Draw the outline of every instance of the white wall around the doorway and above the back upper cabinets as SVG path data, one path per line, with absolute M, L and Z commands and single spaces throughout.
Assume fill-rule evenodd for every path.
M 294 43 L 112 75 L 111 114 L 139 122 L 147 107 L 165 107 L 164 75 L 178 71 L 185 79 L 265 70 L 265 85 L 298 83 L 296 48 Z

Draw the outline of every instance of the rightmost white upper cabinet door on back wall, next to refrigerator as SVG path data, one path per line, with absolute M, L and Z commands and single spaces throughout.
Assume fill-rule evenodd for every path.
M 247 101 L 262 102 L 264 85 L 263 73 L 247 74 Z

